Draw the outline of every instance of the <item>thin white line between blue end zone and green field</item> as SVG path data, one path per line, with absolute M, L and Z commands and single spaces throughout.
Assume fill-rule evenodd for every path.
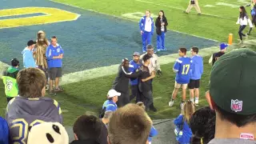
M 50 0 L 50 2 L 55 2 L 55 1 Z M 55 3 L 66 5 L 66 6 L 73 6 L 75 8 L 81 9 L 81 10 L 88 10 L 88 11 L 92 11 L 94 13 L 104 14 L 104 15 L 107 15 L 107 16 L 110 16 L 110 17 L 114 17 L 114 18 L 125 19 L 125 20 L 130 21 L 130 22 L 138 22 L 138 21 L 136 21 L 134 19 L 124 18 L 124 17 L 120 17 L 120 16 L 116 16 L 116 15 L 111 15 L 111 14 L 105 14 L 105 13 L 102 13 L 102 12 L 99 12 L 99 11 L 96 11 L 96 10 L 85 9 L 85 8 L 74 6 L 74 5 L 70 5 L 70 4 L 67 4 L 67 3 L 62 3 L 62 2 L 55 2 Z M 168 30 L 170 30 L 170 29 L 168 29 Z M 179 34 L 187 34 L 185 32 L 180 32 L 180 31 L 176 31 L 176 30 L 171 30 L 171 31 L 174 31 L 174 32 L 179 33 Z M 194 36 L 194 37 L 197 37 L 197 38 L 204 38 L 204 37 L 201 37 L 201 36 L 198 36 L 198 35 L 194 35 L 194 34 L 187 34 L 187 35 L 191 35 L 191 36 Z M 214 40 L 214 39 L 211 39 L 211 38 L 204 38 L 204 39 L 207 39 L 207 40 L 210 40 L 210 41 L 214 41 L 214 42 L 218 42 L 217 40 Z

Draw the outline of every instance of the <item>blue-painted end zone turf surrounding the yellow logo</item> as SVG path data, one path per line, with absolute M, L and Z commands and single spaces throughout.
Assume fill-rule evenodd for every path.
M 0 50 L 3 52 L 0 53 L 0 61 L 2 62 L 10 63 L 10 59 L 18 58 L 22 63 L 22 50 L 26 47 L 28 40 L 35 40 L 38 30 L 44 30 L 49 40 L 53 35 L 58 37 L 58 43 L 65 52 L 63 58 L 65 74 L 119 64 L 122 58 L 131 59 L 134 51 L 142 52 L 142 38 L 138 22 L 109 17 L 46 0 L 35 0 L 32 3 L 30 0 L 22 2 L 0 0 L 0 3 L 2 1 L 3 5 L 0 9 L 10 9 L 15 6 L 44 6 L 81 14 L 78 20 L 71 22 L 1 29 Z M 156 46 L 155 32 L 152 40 L 152 44 Z M 218 43 L 204 38 L 168 31 L 166 33 L 167 51 L 160 52 L 158 56 L 178 53 L 179 47 L 205 48 L 216 44 Z

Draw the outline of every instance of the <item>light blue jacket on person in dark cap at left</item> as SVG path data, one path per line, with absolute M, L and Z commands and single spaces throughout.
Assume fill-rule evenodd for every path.
M 34 61 L 33 52 L 27 47 L 22 51 L 23 55 L 23 66 L 25 68 L 37 67 Z

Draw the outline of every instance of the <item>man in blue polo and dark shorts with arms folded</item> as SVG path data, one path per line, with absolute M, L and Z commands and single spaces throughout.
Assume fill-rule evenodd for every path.
M 63 58 L 62 46 L 58 45 L 57 38 L 53 36 L 51 38 L 51 44 L 47 47 L 46 58 L 48 64 L 48 70 L 50 74 L 50 94 L 55 95 L 54 92 L 62 91 L 58 86 L 59 78 L 62 77 L 62 58 Z M 53 81 L 55 81 L 55 88 L 53 90 Z

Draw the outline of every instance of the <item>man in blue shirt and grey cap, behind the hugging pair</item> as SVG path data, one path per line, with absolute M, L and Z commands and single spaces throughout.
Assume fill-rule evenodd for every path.
M 140 54 L 138 52 L 134 52 L 134 59 L 130 61 L 129 72 L 136 73 L 139 68 L 142 66 L 142 63 L 139 62 Z M 138 78 L 130 78 L 130 101 L 136 97 L 136 102 L 141 102 L 140 94 L 138 92 Z

